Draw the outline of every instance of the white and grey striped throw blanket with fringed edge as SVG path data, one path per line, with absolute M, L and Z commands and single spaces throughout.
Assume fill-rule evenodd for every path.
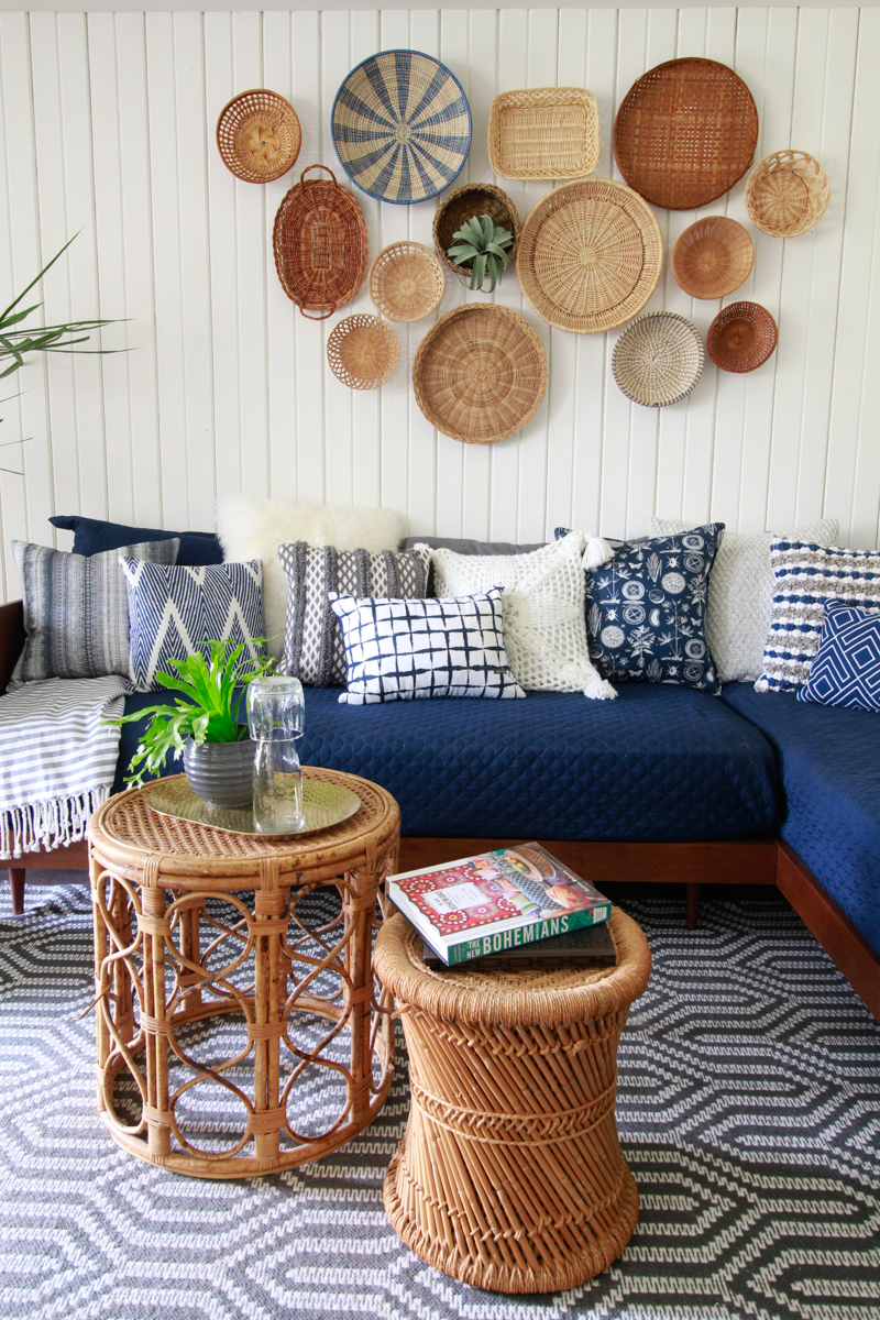
M 125 680 L 47 678 L 0 697 L 0 858 L 86 837 L 116 774 Z

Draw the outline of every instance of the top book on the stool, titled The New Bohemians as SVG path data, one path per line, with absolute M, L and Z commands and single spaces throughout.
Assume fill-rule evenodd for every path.
M 392 875 L 388 896 L 450 966 L 611 915 L 610 900 L 540 843 Z

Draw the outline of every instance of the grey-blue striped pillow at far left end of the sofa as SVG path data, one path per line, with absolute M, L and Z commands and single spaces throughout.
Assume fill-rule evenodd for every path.
M 136 562 L 173 564 L 178 541 L 128 545 Z M 9 688 L 45 678 L 128 675 L 128 601 L 119 550 L 69 554 L 13 541 L 21 574 L 26 640 Z

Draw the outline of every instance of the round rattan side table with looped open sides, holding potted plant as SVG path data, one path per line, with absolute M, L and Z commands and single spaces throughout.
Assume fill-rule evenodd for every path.
M 360 809 L 277 842 L 160 816 L 149 788 L 92 817 L 98 1107 L 150 1164 L 277 1173 L 351 1140 L 388 1097 L 371 946 L 400 810 L 355 775 L 303 775 L 351 788 Z

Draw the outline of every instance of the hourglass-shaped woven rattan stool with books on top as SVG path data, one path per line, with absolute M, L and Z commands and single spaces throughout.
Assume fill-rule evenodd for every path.
M 620 1255 L 639 1195 L 615 1126 L 617 1040 L 645 989 L 645 936 L 616 908 L 617 966 L 434 973 L 402 916 L 376 941 L 409 1047 L 412 1107 L 385 1209 L 435 1269 L 550 1292 Z

